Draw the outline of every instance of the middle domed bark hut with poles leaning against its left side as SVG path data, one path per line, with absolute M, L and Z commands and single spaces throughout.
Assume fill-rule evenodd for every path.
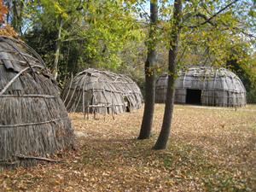
M 89 68 L 64 87 L 62 100 L 70 113 L 123 113 L 142 108 L 143 96 L 131 78 Z

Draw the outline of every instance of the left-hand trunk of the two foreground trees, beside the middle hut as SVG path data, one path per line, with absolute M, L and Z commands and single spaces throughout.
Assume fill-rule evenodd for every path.
M 149 38 L 154 39 L 152 43 L 148 44 L 148 56 L 145 62 L 145 106 L 143 113 L 143 123 L 138 139 L 148 139 L 151 137 L 151 129 L 154 116 L 154 90 L 155 90 L 155 61 L 156 61 L 156 27 L 158 26 L 158 0 L 150 3 L 150 31 Z

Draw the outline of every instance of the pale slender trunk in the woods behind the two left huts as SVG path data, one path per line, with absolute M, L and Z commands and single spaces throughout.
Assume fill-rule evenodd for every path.
M 58 76 L 58 62 L 59 62 L 59 56 L 60 56 L 60 49 L 61 49 L 61 28 L 63 24 L 63 19 L 60 15 L 60 19 L 58 20 L 58 32 L 57 32 L 57 39 L 56 39 L 56 44 L 55 44 L 55 61 L 54 65 L 52 67 L 52 73 L 53 77 L 56 80 Z

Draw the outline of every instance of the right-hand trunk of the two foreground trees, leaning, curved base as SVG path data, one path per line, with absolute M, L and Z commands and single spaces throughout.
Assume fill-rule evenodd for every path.
M 177 50 L 178 50 L 178 42 L 181 27 L 182 15 L 182 0 L 175 0 L 174 2 L 174 21 L 172 27 L 172 39 L 170 42 L 169 49 L 169 75 L 168 75 L 168 87 L 167 87 L 167 95 L 166 95 L 166 108 L 163 119 L 162 128 L 160 131 L 160 136 L 158 137 L 156 143 L 154 144 L 154 149 L 164 149 L 166 148 L 168 137 L 171 131 L 172 125 L 172 113 L 173 113 L 173 103 L 174 103 L 174 85 L 175 85 L 175 76 L 176 65 L 177 65 Z

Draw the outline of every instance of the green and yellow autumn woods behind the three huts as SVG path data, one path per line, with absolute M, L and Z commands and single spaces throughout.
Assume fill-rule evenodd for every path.
M 159 1 L 158 26 L 153 36 L 149 1 L 1 3 L 2 34 L 7 30 L 11 36 L 17 32 L 43 57 L 60 84 L 71 78 L 71 73 L 94 67 L 129 74 L 144 95 L 143 68 L 151 42 L 155 42 L 158 55 L 152 69 L 156 76 L 167 71 L 174 3 Z M 253 102 L 254 10 L 253 1 L 184 2 L 177 70 L 190 66 L 228 67 L 243 79 L 248 101 Z

